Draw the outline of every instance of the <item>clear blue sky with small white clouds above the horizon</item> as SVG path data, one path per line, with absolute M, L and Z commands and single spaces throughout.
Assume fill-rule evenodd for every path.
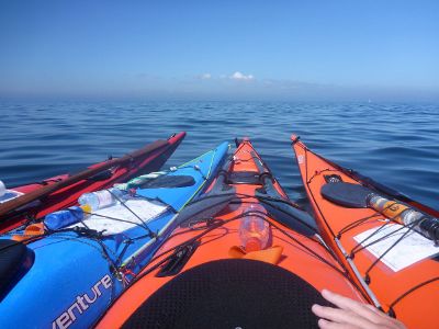
M 439 1 L 0 0 L 0 97 L 438 100 Z

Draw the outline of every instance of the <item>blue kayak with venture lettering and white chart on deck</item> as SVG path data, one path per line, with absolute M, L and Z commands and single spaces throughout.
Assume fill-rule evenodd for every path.
M 130 190 L 127 200 L 33 242 L 3 235 L 0 328 L 92 326 L 176 228 L 184 205 L 209 186 L 227 150 L 223 143 L 168 172 L 121 185 Z

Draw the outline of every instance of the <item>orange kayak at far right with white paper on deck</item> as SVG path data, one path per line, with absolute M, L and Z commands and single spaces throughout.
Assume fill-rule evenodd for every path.
M 350 277 L 408 328 L 437 328 L 439 213 L 325 159 L 294 135 L 292 141 L 322 237 Z

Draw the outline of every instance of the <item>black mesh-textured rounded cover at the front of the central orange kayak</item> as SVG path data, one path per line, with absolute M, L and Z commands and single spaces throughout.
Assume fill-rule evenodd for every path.
M 165 284 L 123 327 L 318 328 L 314 303 L 327 305 L 313 286 L 280 266 L 219 260 Z

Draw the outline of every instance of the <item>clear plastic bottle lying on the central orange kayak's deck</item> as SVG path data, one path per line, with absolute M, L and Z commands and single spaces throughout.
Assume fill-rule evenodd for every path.
M 263 219 L 267 216 L 266 208 L 255 203 L 246 207 L 244 214 L 247 215 L 240 219 L 239 239 L 246 251 L 267 248 L 270 239 L 270 225 Z

